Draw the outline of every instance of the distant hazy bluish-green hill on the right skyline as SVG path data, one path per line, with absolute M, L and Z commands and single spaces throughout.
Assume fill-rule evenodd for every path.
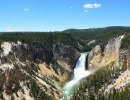
M 127 31 L 130 31 L 130 27 L 123 27 L 123 26 L 114 27 L 113 26 L 113 27 L 106 27 L 106 28 L 68 29 L 68 30 L 65 30 L 64 32 L 73 33 L 79 38 L 89 42 L 93 39 L 100 40 L 99 38 L 103 39 L 103 38 L 109 37 L 111 39 L 113 36 L 124 34 L 124 32 L 127 32 Z

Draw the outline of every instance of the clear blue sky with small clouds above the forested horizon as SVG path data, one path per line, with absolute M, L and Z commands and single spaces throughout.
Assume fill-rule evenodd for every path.
M 130 0 L 0 0 L 0 31 L 130 26 Z

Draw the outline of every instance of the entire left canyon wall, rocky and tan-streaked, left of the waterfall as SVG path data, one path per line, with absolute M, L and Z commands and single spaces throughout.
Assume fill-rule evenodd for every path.
M 54 52 L 51 54 L 42 48 L 21 42 L 1 42 L 0 98 L 59 100 L 62 93 L 61 85 L 72 71 L 79 53 L 69 46 L 58 45 L 62 47 L 54 46 Z M 56 52 L 62 53 L 56 56 Z M 70 58 L 67 55 L 76 56 Z M 62 64 L 59 65 L 56 58 L 63 58 L 62 62 L 68 68 Z M 72 62 L 67 63 L 66 60 Z

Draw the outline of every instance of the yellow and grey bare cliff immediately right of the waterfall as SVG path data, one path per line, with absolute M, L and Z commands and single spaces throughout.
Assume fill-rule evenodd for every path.
M 119 65 L 119 55 L 121 40 L 124 36 L 119 36 L 108 41 L 104 50 L 100 45 L 93 48 L 89 53 L 89 69 L 102 67 L 113 63 L 114 66 Z

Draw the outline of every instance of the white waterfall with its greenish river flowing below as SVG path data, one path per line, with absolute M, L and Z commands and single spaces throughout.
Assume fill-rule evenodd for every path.
M 73 94 L 74 89 L 78 82 L 88 75 L 91 74 L 88 70 L 85 70 L 85 63 L 86 63 L 86 56 L 87 53 L 81 53 L 78 61 L 76 62 L 76 66 L 74 69 L 74 76 L 71 81 L 65 83 L 63 86 L 63 97 L 61 100 L 69 100 L 70 95 Z

